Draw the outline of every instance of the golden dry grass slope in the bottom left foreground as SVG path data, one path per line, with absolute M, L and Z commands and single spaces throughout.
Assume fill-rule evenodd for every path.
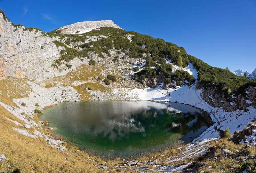
M 67 151 L 62 153 L 51 148 L 44 138 L 35 140 L 23 136 L 12 129 L 15 124 L 4 119 L 4 116 L 15 119 L 0 107 L 0 153 L 6 156 L 6 161 L 1 162 L 0 172 L 12 172 L 14 169 L 22 173 L 101 172 L 95 166 L 97 162 L 86 159 L 91 157 L 86 153 L 77 153 L 72 146 L 67 146 Z

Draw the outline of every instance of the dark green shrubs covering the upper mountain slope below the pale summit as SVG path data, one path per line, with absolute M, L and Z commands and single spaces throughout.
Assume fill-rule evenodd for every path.
M 130 42 L 125 36 L 132 34 L 132 42 Z M 104 58 L 104 53 L 110 56 L 108 50 L 115 48 L 118 50 L 118 54 L 125 53 L 125 56 L 134 58 L 144 58 L 146 65 L 143 70 L 137 72 L 135 77 L 137 79 L 143 79 L 147 77 L 170 79 L 175 83 L 183 84 L 188 82 L 192 84 L 195 82 L 195 78 L 181 69 L 181 67 L 187 67 L 189 62 L 198 70 L 198 84 L 202 87 L 213 87 L 215 92 L 224 93 L 226 96 L 234 93 L 239 87 L 246 84 L 249 80 L 246 77 L 239 77 L 226 69 L 220 69 L 212 67 L 200 59 L 197 59 L 191 55 L 188 55 L 183 47 L 165 42 L 163 39 L 155 39 L 148 35 L 142 35 L 136 32 L 128 32 L 125 30 L 102 27 L 100 30 L 92 30 L 84 34 L 60 34 L 60 30 L 54 30 L 47 33 L 48 36 L 59 36 L 60 41 L 66 38 L 65 43 L 70 44 L 72 42 L 84 42 L 88 36 L 106 35 L 107 38 L 101 38 L 97 41 L 91 41 L 89 43 L 78 46 L 82 48 L 82 51 L 78 51 L 73 48 L 68 48 L 65 43 L 60 41 L 54 41 L 56 46 L 62 46 L 65 50 L 61 51 L 60 59 L 56 60 L 56 63 L 52 66 L 57 67 L 61 61 L 70 61 L 75 57 L 87 57 L 90 58 L 88 53 L 94 52 L 99 57 Z M 179 71 L 172 73 L 172 65 L 166 63 L 166 59 L 175 65 L 180 67 Z M 116 62 L 117 57 L 114 57 L 112 61 Z M 137 69 L 137 68 L 136 68 Z M 136 70 L 135 69 L 135 70 Z M 109 81 L 107 80 L 107 83 Z

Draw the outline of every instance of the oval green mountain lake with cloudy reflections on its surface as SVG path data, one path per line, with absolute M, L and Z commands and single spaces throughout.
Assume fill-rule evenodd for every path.
M 66 141 L 102 157 L 140 156 L 188 143 L 209 124 L 192 106 L 154 101 L 64 102 L 40 119 Z

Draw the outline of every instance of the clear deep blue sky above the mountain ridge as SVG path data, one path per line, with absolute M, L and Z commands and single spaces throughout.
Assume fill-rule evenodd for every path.
M 256 0 L 0 0 L 15 24 L 44 32 L 78 21 L 113 20 L 163 38 L 214 67 L 256 68 Z

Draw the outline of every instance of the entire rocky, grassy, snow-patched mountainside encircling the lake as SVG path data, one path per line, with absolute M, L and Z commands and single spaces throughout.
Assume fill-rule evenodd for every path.
M 228 137 L 218 140 L 225 129 L 243 130 L 256 118 L 255 80 L 212 67 L 174 43 L 125 31 L 111 20 L 78 22 L 44 33 L 13 24 L 0 11 L 0 45 L 0 127 L 6 132 L 0 134 L 0 154 L 7 158 L 0 162 L 0 172 L 207 171 L 199 165 L 202 158 L 211 158 L 214 147 L 222 155 L 226 146 L 232 152 L 243 150 L 243 144 Z M 141 157 L 136 164 L 103 160 L 54 136 L 38 121 L 44 108 L 84 100 L 178 102 L 208 112 L 213 125 L 176 152 Z M 251 144 L 245 138 L 239 142 Z M 238 153 L 226 157 L 236 162 Z M 247 162 L 237 161 L 234 169 L 244 169 Z M 234 170 L 229 170 L 231 162 L 222 164 L 227 172 Z

